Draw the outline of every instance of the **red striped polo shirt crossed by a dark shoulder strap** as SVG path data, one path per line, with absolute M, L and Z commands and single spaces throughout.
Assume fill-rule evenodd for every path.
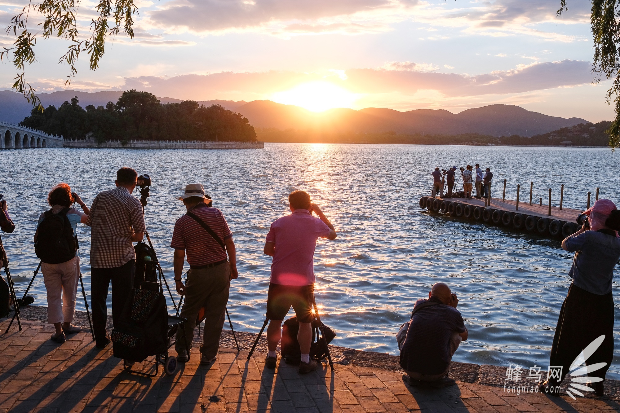
M 201 202 L 190 211 L 203 220 L 222 242 L 232 237 L 228 223 L 218 208 L 209 208 L 204 202 Z M 190 265 L 212 264 L 227 258 L 226 251 L 206 232 L 205 228 L 189 215 L 182 216 L 174 224 L 170 247 L 184 249 L 187 252 L 187 262 Z

